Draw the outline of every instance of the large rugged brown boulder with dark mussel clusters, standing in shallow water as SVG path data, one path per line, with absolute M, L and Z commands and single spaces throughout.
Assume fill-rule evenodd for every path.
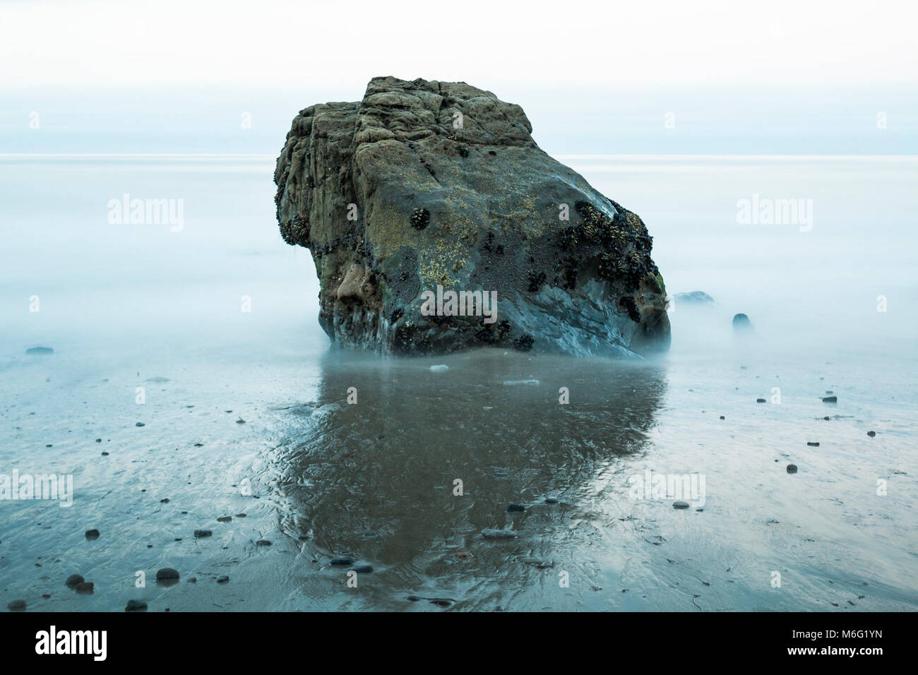
M 277 219 L 285 242 L 312 252 L 334 343 L 402 354 L 668 345 L 644 223 L 531 132 L 521 107 L 465 83 L 378 77 L 358 103 L 300 111 L 274 172 Z M 442 308 L 430 302 L 438 287 Z M 460 309 L 451 290 L 496 291 L 496 318 L 478 304 L 444 315 Z

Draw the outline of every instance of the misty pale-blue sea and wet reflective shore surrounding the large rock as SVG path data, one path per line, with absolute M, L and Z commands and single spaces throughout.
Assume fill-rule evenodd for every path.
M 715 299 L 674 303 L 668 354 L 336 352 L 273 157 L 0 157 L 0 474 L 73 476 L 0 501 L 3 606 L 918 608 L 918 160 L 560 159 Z M 126 194 L 181 222 L 110 222 Z M 738 222 L 754 196 L 812 219 Z

